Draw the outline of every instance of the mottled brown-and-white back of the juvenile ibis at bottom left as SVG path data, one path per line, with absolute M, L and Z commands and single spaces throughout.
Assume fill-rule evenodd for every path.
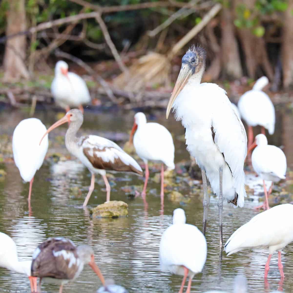
M 48 238 L 36 248 L 33 255 L 31 275 L 68 280 L 74 277 L 78 267 L 79 260 L 76 247 L 69 239 L 63 237 Z

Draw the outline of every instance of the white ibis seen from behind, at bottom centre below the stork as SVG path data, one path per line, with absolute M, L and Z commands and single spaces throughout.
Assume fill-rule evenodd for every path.
M 189 276 L 186 293 L 190 293 L 192 278 L 202 271 L 207 258 L 207 241 L 196 226 L 186 224 L 183 209 L 173 212 L 173 224 L 163 233 L 160 242 L 160 266 L 162 271 L 184 276 L 179 293 Z

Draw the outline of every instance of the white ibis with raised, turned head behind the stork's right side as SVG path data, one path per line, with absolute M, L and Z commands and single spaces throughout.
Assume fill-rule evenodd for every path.
M 238 101 L 239 112 L 248 126 L 248 148 L 253 142 L 252 127 L 260 125 L 263 134 L 265 128 L 271 135 L 275 131 L 275 108 L 270 97 L 262 91 L 268 83 L 266 76 L 261 77 Z

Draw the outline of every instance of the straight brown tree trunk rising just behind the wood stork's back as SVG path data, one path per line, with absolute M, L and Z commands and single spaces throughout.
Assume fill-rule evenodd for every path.
M 229 8 L 224 7 L 221 13 L 221 52 L 223 75 L 229 79 L 242 76 L 238 44 L 234 35 L 234 24 Z

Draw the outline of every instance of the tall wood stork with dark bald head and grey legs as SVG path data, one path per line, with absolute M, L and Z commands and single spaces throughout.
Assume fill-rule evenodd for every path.
M 181 120 L 185 128 L 187 150 L 202 170 L 204 234 L 209 204 L 207 178 L 214 193 L 219 196 L 222 248 L 223 196 L 234 207 L 243 207 L 246 197 L 243 164 L 247 154 L 247 137 L 226 92 L 217 84 L 200 83 L 205 60 L 206 53 L 202 47 L 193 46 L 183 56 L 166 117 L 173 107 L 176 119 Z

